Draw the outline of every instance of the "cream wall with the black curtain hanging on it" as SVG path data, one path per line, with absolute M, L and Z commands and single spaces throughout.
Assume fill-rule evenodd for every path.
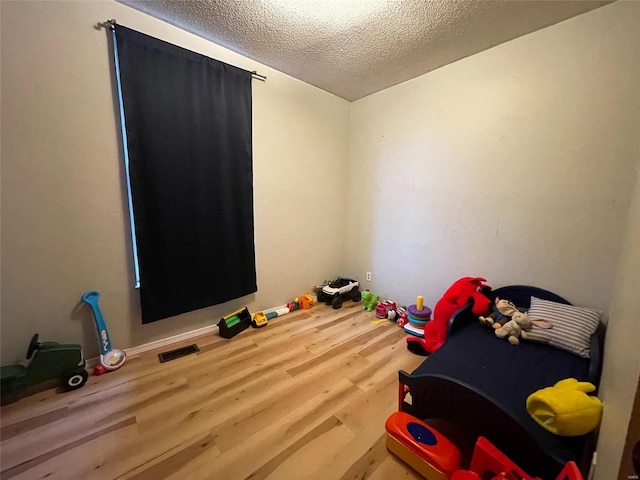
M 35 332 L 96 356 L 85 290 L 101 292 L 112 342 L 127 348 L 286 303 L 339 272 L 347 101 L 115 2 L 0 8 L 3 364 Z M 95 27 L 110 18 L 268 76 L 253 83 L 256 294 L 141 325 L 108 33 Z

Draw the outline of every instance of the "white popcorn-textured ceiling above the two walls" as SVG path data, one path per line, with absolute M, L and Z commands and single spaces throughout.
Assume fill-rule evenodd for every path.
M 347 100 L 611 3 L 118 1 Z

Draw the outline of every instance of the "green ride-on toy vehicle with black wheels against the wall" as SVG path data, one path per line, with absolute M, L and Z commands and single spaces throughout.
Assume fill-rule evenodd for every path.
M 80 345 L 38 343 L 36 333 L 27 349 L 29 359 L 31 361 L 27 366 L 16 364 L 1 368 L 2 403 L 5 403 L 7 395 L 13 396 L 47 380 L 59 378 L 65 390 L 76 390 L 89 378 Z

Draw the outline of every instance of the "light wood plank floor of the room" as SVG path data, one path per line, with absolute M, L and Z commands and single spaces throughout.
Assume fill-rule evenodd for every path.
M 314 305 L 166 363 L 159 351 L 75 392 L 1 408 L 0 478 L 418 479 L 384 444 L 397 371 L 423 357 L 345 302 Z

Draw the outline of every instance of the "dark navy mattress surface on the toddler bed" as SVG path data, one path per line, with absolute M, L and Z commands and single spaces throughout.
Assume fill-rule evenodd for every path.
M 425 374 L 449 377 L 481 392 L 559 462 L 579 463 L 585 439 L 559 437 L 543 429 L 527 413 L 526 400 L 531 393 L 564 378 L 588 381 L 589 359 L 525 340 L 512 345 L 480 323 L 468 322 L 447 340 L 446 348 L 438 349 L 411 376 Z

